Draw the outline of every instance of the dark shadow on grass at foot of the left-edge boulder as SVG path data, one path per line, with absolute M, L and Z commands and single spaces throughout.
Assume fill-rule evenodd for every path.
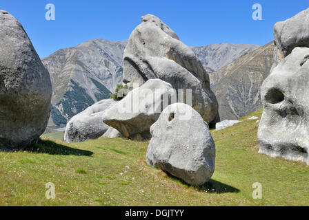
M 50 140 L 39 140 L 37 144 L 34 144 L 26 151 L 33 153 L 48 153 L 50 155 L 77 155 L 77 156 L 88 156 L 90 157 L 93 153 L 91 151 L 79 150 L 57 144 Z

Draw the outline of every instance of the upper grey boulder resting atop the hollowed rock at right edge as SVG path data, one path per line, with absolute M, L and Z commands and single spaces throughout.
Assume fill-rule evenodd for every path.
M 309 47 L 308 23 L 309 8 L 286 21 L 275 23 L 275 65 L 288 56 L 295 47 Z

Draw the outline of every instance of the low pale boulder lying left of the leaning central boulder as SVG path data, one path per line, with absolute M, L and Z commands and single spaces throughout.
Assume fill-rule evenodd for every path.
M 101 120 L 103 111 L 116 103 L 117 101 L 112 99 L 101 100 L 74 115 L 66 124 L 63 141 L 83 142 L 101 137 L 110 127 Z

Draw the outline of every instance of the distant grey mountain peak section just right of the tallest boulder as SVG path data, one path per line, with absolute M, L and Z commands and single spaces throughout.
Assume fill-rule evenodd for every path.
M 236 58 L 245 56 L 250 52 L 256 50 L 259 45 L 248 45 L 248 44 L 230 44 L 230 43 L 220 43 L 206 45 L 203 47 L 191 47 L 193 52 L 200 59 L 203 67 L 209 71 L 212 69 L 212 72 L 221 69 L 228 63 L 231 63 Z

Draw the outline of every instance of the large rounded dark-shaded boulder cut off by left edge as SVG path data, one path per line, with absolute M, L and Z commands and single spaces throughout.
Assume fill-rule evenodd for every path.
M 37 142 L 50 116 L 52 85 L 23 27 L 0 10 L 0 150 Z

